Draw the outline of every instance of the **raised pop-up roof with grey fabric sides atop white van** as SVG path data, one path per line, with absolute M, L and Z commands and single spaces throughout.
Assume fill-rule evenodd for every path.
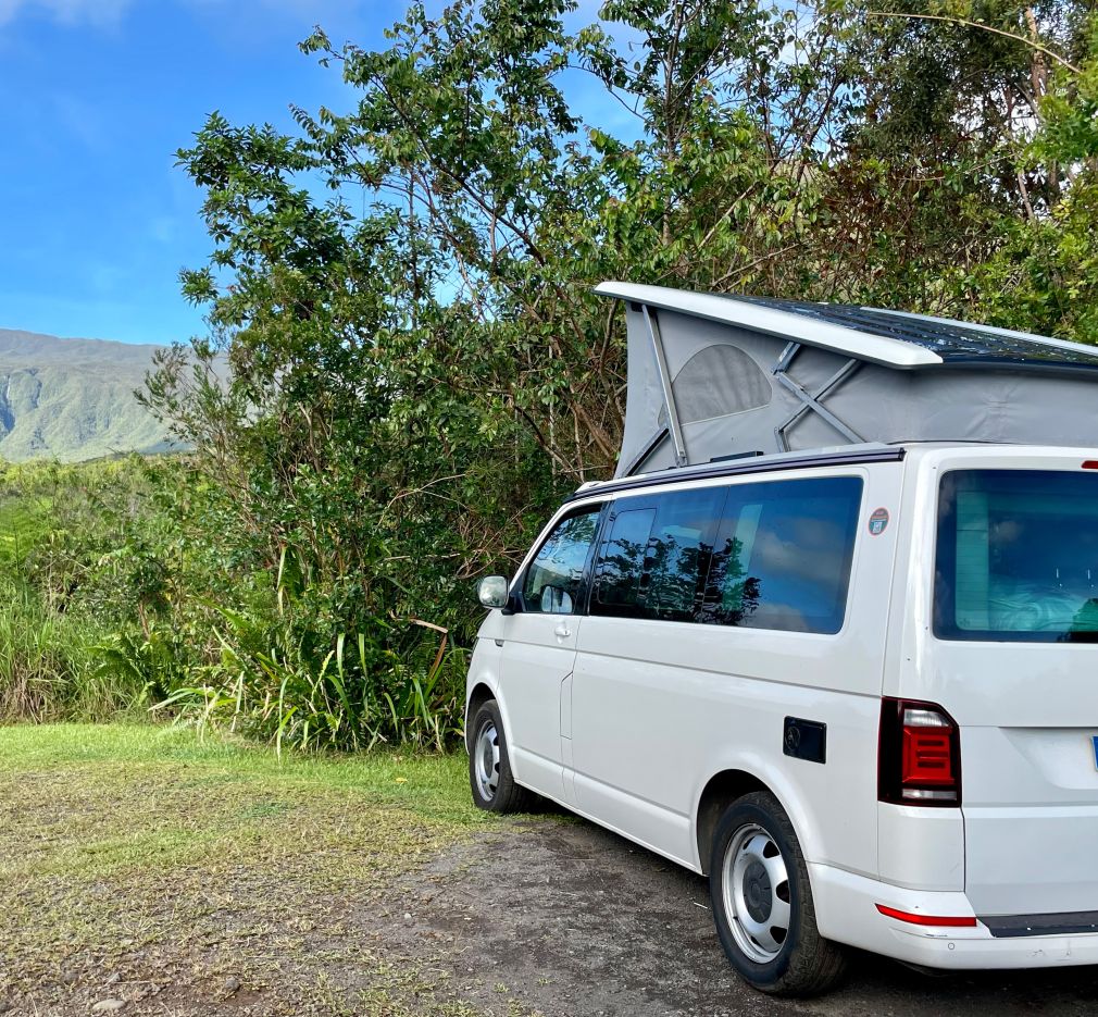
M 1098 347 L 842 304 L 595 292 L 626 303 L 618 477 L 864 443 L 1095 440 Z

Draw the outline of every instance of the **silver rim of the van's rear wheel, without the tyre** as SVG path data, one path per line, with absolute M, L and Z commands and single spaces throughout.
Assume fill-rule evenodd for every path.
M 781 848 L 758 824 L 741 826 L 725 852 L 722 876 L 725 914 L 736 945 L 757 963 L 774 960 L 788 938 L 793 914 Z

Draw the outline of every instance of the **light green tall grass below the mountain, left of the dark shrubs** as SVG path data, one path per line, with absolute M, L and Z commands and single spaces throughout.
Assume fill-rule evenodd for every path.
M 0 468 L 0 720 L 103 719 L 167 688 L 169 655 L 123 662 L 167 599 L 160 469 L 136 457 Z

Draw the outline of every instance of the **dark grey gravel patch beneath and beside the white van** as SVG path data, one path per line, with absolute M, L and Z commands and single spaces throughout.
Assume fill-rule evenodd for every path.
M 490 1013 L 503 996 L 545 1017 L 1098 1013 L 1094 968 L 930 976 L 869 954 L 825 998 L 769 998 L 728 966 L 705 880 L 584 822 L 518 820 L 425 875 L 355 921 L 434 954 Z

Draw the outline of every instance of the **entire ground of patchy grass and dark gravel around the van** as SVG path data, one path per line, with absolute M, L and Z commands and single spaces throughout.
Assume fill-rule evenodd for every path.
M 828 997 L 771 999 L 728 966 L 704 880 L 563 814 L 477 812 L 464 765 L 5 729 L 0 1015 L 1098 1015 L 1096 969 L 867 955 Z

